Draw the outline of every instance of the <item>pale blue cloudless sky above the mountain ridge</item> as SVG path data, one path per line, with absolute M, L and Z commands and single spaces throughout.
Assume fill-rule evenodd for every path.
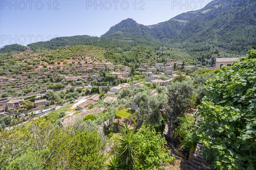
M 127 18 L 153 25 L 211 0 L 0 0 L 0 47 L 73 35 L 101 36 Z

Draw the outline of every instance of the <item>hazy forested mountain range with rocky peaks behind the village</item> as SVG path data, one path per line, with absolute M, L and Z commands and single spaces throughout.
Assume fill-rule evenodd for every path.
M 256 0 L 213 0 L 202 9 L 188 11 L 154 25 L 144 26 L 128 18 L 112 26 L 102 37 L 58 37 L 27 46 L 41 49 L 114 40 L 137 44 L 164 43 L 178 48 L 212 45 L 228 53 L 245 54 L 256 41 L 255 8 Z

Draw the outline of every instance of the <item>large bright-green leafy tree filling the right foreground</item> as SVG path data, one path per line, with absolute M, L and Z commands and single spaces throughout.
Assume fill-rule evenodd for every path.
M 256 50 L 223 66 L 207 82 L 196 135 L 217 169 L 253 170 L 256 165 Z

